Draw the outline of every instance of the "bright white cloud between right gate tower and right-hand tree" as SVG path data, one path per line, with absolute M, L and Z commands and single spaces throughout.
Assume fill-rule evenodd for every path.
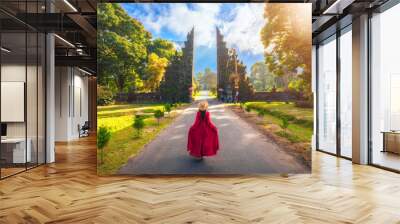
M 221 32 L 228 46 L 241 52 L 262 54 L 264 45 L 260 32 L 265 25 L 264 3 L 242 4 L 233 10 L 234 18 L 223 23 Z

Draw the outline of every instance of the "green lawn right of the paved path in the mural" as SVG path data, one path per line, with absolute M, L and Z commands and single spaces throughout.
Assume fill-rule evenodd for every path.
M 285 102 L 247 102 L 245 107 L 258 113 L 264 111 L 263 120 L 265 126 L 274 126 L 275 134 L 296 142 L 311 142 L 313 134 L 313 109 L 299 108 L 294 103 Z M 282 119 L 289 120 L 289 126 L 284 131 L 280 124 Z

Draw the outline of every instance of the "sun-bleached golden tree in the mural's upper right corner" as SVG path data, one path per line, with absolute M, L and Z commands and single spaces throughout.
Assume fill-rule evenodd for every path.
M 266 4 L 266 25 L 261 40 L 265 63 L 277 76 L 289 82 L 302 80 L 298 91 L 307 100 L 311 92 L 311 7 L 307 4 Z

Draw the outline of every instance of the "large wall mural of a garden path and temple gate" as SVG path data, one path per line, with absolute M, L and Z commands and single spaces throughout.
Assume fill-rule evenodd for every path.
M 311 172 L 311 4 L 98 4 L 98 174 Z

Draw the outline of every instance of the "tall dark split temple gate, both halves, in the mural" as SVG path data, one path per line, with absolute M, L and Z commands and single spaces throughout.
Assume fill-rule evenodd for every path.
M 246 101 L 253 88 L 246 76 L 246 66 L 234 48 L 228 48 L 220 30 L 217 37 L 217 96 L 222 101 Z M 160 86 L 163 101 L 190 102 L 194 77 L 194 28 L 188 33 L 182 53 L 177 53 L 167 67 Z

